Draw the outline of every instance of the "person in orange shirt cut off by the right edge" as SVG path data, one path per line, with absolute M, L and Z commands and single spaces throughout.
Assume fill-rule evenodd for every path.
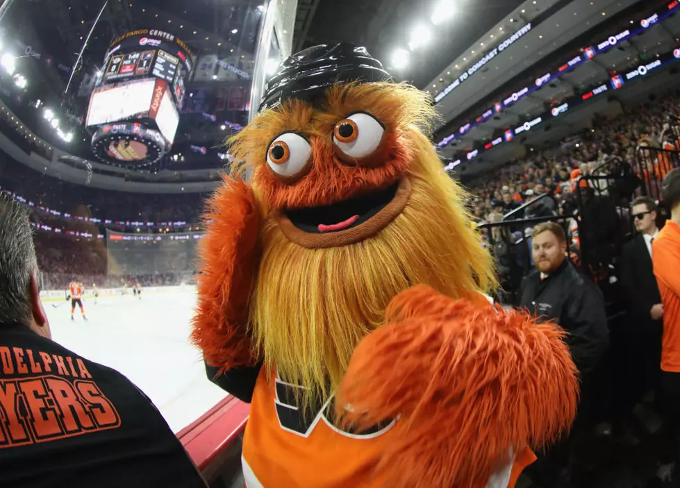
M 680 168 L 666 175 L 661 192 L 671 212 L 652 242 L 654 275 L 663 304 L 661 371 L 667 458 L 662 461 L 675 464 L 672 486 L 680 486 Z

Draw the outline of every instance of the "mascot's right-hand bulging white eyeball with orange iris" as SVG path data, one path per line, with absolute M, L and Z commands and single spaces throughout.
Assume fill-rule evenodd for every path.
M 378 148 L 384 132 L 383 124 L 372 115 L 358 112 L 335 124 L 333 142 L 349 158 L 360 159 Z

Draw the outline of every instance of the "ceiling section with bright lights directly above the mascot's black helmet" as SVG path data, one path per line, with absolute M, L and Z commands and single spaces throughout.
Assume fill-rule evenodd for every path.
M 541 0 L 546 1 L 546 0 Z M 521 0 L 299 0 L 295 47 L 335 42 L 362 44 L 379 58 L 395 78 L 424 88 L 451 59 L 474 43 Z M 438 25 L 430 17 L 447 17 Z M 417 26 L 431 26 L 431 40 L 408 67 L 392 62 L 396 49 L 406 48 Z

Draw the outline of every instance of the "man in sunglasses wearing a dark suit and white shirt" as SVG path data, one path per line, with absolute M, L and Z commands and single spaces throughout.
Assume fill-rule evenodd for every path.
M 628 319 L 621 324 L 612 348 L 620 353 L 617 370 L 622 382 L 616 389 L 622 398 L 617 401 L 615 424 L 626 435 L 632 434 L 630 429 L 635 425 L 633 408 L 657 382 L 663 332 L 663 305 L 652 267 L 652 242 L 658 236 L 656 202 L 640 196 L 633 201 L 631 213 L 638 235 L 623 246 L 620 265 Z

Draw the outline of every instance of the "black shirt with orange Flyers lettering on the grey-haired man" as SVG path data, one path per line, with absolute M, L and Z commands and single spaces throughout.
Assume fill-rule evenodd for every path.
M 26 326 L 0 325 L 0 487 L 206 483 L 125 376 Z

